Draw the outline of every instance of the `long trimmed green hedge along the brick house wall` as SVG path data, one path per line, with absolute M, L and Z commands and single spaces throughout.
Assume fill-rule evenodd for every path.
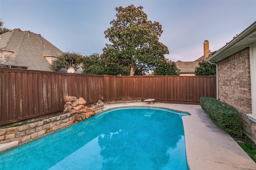
M 200 106 L 212 121 L 232 137 L 242 137 L 240 115 L 234 107 L 214 98 L 200 98 Z

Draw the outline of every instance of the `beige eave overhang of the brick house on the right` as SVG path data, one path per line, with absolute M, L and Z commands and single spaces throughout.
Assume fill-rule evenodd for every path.
M 234 37 L 234 39 L 219 49 L 206 61 L 216 63 L 246 47 L 249 47 L 252 43 L 256 43 L 256 21 L 246 28 L 242 33 Z

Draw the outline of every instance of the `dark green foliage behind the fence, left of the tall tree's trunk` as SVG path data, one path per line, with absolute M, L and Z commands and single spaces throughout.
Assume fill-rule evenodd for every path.
M 121 66 L 118 63 L 105 64 L 104 59 L 98 53 L 83 58 L 83 73 L 97 75 L 128 75 L 128 66 Z

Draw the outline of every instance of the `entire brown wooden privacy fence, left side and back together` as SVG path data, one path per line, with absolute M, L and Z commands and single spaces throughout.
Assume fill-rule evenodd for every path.
M 216 78 L 215 78 L 216 79 Z M 0 125 L 63 110 L 65 96 L 98 100 L 147 99 L 199 104 L 216 98 L 212 76 L 96 76 L 0 68 Z

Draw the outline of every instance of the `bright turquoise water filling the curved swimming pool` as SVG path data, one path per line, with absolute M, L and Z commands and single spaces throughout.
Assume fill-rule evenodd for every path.
M 188 170 L 181 117 L 168 109 L 104 111 L 0 155 L 1 170 Z

